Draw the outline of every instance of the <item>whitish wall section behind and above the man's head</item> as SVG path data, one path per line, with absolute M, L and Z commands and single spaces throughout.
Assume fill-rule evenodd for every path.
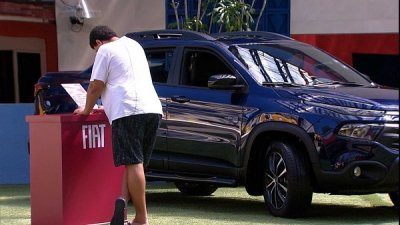
M 64 0 L 76 5 L 77 0 Z M 122 36 L 132 31 L 165 28 L 164 0 L 86 0 L 95 18 L 86 19 L 80 31 L 69 21 L 72 10 L 56 0 L 58 69 L 82 70 L 93 63 L 95 52 L 89 47 L 89 33 L 96 25 L 107 25 Z M 73 28 L 79 28 L 74 26 Z

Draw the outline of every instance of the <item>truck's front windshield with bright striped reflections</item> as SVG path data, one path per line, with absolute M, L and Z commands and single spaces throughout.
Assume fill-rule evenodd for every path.
M 245 44 L 230 50 L 260 85 L 361 85 L 372 81 L 331 55 L 307 44 Z

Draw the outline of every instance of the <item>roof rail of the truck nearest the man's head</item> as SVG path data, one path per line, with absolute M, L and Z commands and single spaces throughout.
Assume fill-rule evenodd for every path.
M 215 40 L 210 35 L 190 30 L 150 30 L 131 32 L 125 36 L 135 40 L 154 40 L 154 39 L 183 39 L 183 40 Z

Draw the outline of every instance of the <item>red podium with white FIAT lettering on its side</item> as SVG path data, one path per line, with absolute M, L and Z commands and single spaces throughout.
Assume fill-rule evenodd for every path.
M 32 225 L 110 221 L 123 167 L 114 167 L 103 113 L 26 116 Z

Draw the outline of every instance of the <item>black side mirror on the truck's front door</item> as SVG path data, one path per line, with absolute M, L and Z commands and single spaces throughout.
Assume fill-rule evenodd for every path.
M 241 90 L 245 85 L 237 85 L 237 78 L 232 74 L 216 74 L 208 78 L 208 88 L 219 90 Z

